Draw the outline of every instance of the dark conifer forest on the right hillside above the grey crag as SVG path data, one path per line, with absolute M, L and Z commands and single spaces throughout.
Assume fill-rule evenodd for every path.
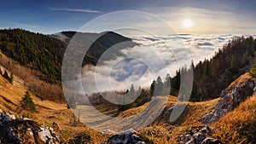
M 180 73 L 194 69 L 194 84 L 191 101 L 206 101 L 218 97 L 221 90 L 244 72 L 248 72 L 255 63 L 256 39 L 236 37 L 225 44 L 223 49 L 210 60 L 200 61 L 196 66 L 192 62 L 189 68 L 183 67 L 171 78 L 172 94 L 179 89 Z

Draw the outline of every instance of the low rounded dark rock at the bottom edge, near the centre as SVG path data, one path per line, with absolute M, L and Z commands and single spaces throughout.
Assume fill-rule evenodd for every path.
M 138 136 L 136 133 L 124 133 L 121 135 L 113 135 L 108 141 L 108 144 L 144 144 L 143 138 Z

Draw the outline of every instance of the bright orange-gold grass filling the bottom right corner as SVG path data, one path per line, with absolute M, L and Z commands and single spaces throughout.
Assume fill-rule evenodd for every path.
M 249 143 L 256 140 L 256 95 L 228 112 L 217 123 L 214 136 L 229 143 Z

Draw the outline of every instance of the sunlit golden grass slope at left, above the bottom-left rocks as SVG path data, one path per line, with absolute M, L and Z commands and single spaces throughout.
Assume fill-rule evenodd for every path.
M 2 71 L 5 70 L 3 66 L 1 66 L 1 68 Z M 4 112 L 15 114 L 18 118 L 22 116 L 31 118 L 38 122 L 38 124 L 46 124 L 52 127 L 53 122 L 58 123 L 62 132 L 57 129 L 55 129 L 55 131 L 61 139 L 66 142 L 84 131 L 90 134 L 92 141 L 95 143 L 107 139 L 108 135 L 103 136 L 77 122 L 78 119 L 74 118 L 73 113 L 67 109 L 67 104 L 48 100 L 41 101 L 41 99 L 32 93 L 31 96 L 37 106 L 38 112 L 23 110 L 17 113 L 16 110 L 20 107 L 21 98 L 25 95 L 27 89 L 26 85 L 24 85 L 24 81 L 16 76 L 13 84 L 10 84 L 8 80 L 0 76 L 0 108 Z

